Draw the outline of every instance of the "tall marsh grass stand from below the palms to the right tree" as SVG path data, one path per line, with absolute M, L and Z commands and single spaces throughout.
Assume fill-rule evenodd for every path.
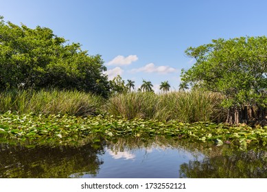
M 226 112 L 220 106 L 221 101 L 220 95 L 202 91 L 162 94 L 132 92 L 111 97 L 107 110 L 111 115 L 126 119 L 222 122 Z

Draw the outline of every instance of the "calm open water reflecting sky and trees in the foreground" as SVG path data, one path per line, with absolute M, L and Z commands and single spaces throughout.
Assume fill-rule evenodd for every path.
M 0 178 L 267 178 L 267 148 L 165 137 L 1 143 Z

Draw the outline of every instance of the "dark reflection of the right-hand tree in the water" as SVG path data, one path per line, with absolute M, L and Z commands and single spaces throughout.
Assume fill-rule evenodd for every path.
M 267 152 L 249 150 L 191 160 L 181 165 L 182 178 L 267 178 Z

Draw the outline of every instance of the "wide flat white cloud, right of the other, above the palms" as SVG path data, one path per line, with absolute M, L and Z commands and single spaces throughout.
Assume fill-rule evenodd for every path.
M 154 63 L 146 64 L 144 67 L 140 67 L 138 69 L 132 69 L 132 72 L 146 72 L 146 73 L 173 73 L 176 71 L 176 69 L 169 67 L 169 66 L 159 66 L 156 67 Z

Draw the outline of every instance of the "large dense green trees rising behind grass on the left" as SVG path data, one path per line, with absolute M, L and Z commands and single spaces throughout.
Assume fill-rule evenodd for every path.
M 64 88 L 107 95 L 109 86 L 100 55 L 89 56 L 79 43 L 47 27 L 30 29 L 0 18 L 0 89 Z

